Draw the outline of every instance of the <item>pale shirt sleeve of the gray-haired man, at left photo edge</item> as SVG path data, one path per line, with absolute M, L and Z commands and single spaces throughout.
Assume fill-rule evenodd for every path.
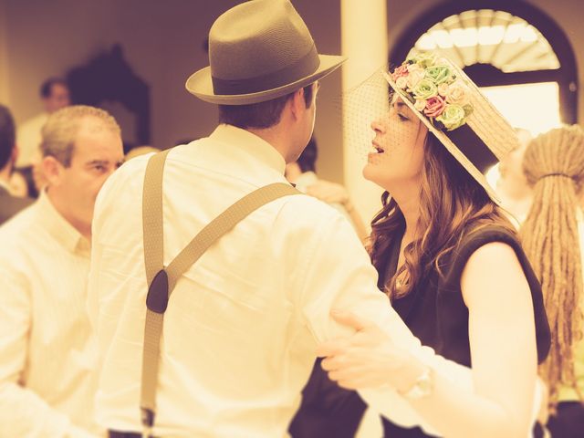
M 26 278 L 6 260 L 1 260 L 0 266 L 0 438 L 94 436 L 26 388 L 31 298 Z

